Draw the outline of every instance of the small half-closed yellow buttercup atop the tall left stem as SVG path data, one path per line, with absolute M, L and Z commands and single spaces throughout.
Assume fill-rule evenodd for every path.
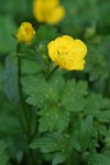
M 23 22 L 16 32 L 18 42 L 30 44 L 34 34 L 35 31 L 32 28 L 32 24 L 30 22 Z

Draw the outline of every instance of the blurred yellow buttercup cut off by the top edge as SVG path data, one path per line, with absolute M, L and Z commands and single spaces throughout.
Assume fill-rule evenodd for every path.
M 59 0 L 34 0 L 33 13 L 38 22 L 57 24 L 65 15 L 65 9 Z

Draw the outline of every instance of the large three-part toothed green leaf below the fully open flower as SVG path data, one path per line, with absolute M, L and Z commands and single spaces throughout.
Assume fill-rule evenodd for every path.
M 22 85 L 29 96 L 26 102 L 41 108 L 40 132 L 62 132 L 68 125 L 70 111 L 81 111 L 86 103 L 87 84 L 70 80 L 65 85 L 61 72 L 56 72 L 48 82 L 43 75 L 24 77 Z

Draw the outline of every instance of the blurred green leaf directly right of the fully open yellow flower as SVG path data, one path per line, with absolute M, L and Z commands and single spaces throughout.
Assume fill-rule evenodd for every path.
M 89 52 L 86 57 L 87 63 L 85 72 L 89 74 L 89 80 L 103 81 L 109 77 L 108 65 L 105 57 L 105 52 L 99 45 L 88 45 Z

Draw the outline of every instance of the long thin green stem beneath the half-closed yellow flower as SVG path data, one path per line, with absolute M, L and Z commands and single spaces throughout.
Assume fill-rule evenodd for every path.
M 28 145 L 31 143 L 32 134 L 31 134 L 31 112 L 25 105 L 25 99 L 22 92 L 22 85 L 21 85 L 21 76 L 22 76 L 22 69 L 21 69 L 21 62 L 22 62 L 22 56 L 21 56 L 21 45 L 16 45 L 16 56 L 18 56 L 18 86 L 19 86 L 19 95 L 20 95 L 20 110 L 19 110 L 19 120 L 21 123 L 21 127 L 26 135 L 28 139 Z M 28 161 L 28 165 L 35 164 L 35 156 L 34 152 L 31 151 L 29 147 L 25 151 L 25 157 Z

